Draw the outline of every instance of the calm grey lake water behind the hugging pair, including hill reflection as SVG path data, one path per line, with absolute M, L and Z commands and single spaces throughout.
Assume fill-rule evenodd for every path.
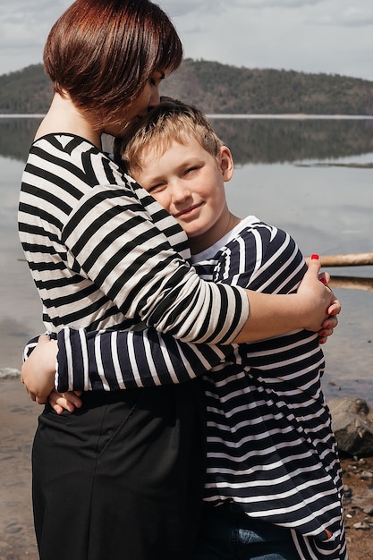
M 305 255 L 373 251 L 373 121 L 211 120 L 233 151 L 226 192 L 236 215 L 282 227 Z M 43 331 L 17 233 L 21 173 L 37 126 L 37 119 L 0 118 L 0 377 L 19 369 L 23 344 Z M 335 288 L 343 312 L 324 346 L 326 395 L 373 404 L 373 266 L 328 271 L 362 280 L 356 289 Z

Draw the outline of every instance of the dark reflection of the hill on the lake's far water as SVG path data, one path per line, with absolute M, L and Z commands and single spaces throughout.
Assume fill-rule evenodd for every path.
M 0 118 L 0 154 L 24 159 L 39 118 Z M 336 159 L 373 152 L 373 120 L 211 118 L 236 165 Z

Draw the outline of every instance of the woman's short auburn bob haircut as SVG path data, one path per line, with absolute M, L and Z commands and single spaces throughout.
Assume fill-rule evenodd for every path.
M 97 127 L 120 123 L 154 72 L 174 72 L 182 43 L 149 0 L 76 0 L 55 22 L 44 67 L 56 92 Z

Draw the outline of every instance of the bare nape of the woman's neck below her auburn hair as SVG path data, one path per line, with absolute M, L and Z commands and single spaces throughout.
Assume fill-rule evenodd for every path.
M 38 127 L 35 140 L 46 134 L 59 132 L 70 132 L 81 136 L 101 149 L 101 133 L 92 127 L 70 98 L 55 93 L 49 111 Z

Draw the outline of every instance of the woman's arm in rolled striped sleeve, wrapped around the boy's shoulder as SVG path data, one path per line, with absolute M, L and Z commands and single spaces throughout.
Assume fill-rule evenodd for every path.
M 135 190 L 142 206 L 125 197 L 125 191 L 115 191 L 111 198 L 108 192 L 100 188 L 74 209 L 64 227 L 64 243 L 81 274 L 98 286 L 124 317 L 139 314 L 149 327 L 184 342 L 231 344 L 294 328 L 318 331 L 330 314 L 326 310 L 333 297 L 318 282 L 320 265 L 316 259 L 311 260 L 304 286 L 297 294 L 264 295 L 239 286 L 204 282 L 157 229 L 159 223 L 171 218 L 146 191 L 140 187 Z M 149 216 L 154 220 L 157 216 L 156 226 L 150 225 Z M 113 232 L 105 238 L 101 233 L 104 220 L 105 230 Z

